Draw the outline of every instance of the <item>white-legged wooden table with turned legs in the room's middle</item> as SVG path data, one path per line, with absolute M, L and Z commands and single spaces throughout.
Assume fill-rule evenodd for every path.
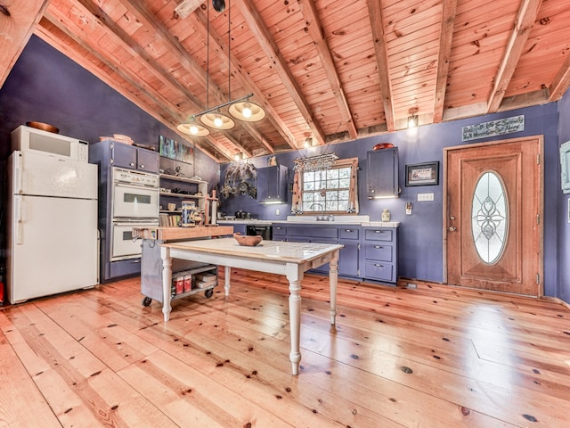
M 164 320 L 170 317 L 170 285 L 172 282 L 172 259 L 187 259 L 212 263 L 225 267 L 225 295 L 230 293 L 230 268 L 243 268 L 281 274 L 289 280 L 289 324 L 291 351 L 289 359 L 292 373 L 299 373 L 301 330 L 301 280 L 305 271 L 330 263 L 330 324 L 337 316 L 338 251 L 343 245 L 337 243 L 287 243 L 263 241 L 256 247 L 240 246 L 233 238 L 163 243 L 160 245 L 162 259 L 162 286 Z

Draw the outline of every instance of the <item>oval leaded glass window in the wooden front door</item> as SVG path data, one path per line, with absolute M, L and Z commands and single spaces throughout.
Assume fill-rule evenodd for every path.
M 485 171 L 475 186 L 471 204 L 471 232 L 477 254 L 488 265 L 499 259 L 507 244 L 509 204 L 501 177 Z

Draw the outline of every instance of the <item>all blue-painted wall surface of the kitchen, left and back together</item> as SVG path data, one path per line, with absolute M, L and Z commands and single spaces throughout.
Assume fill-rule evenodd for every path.
M 462 119 L 419 127 L 415 133 L 401 131 L 385 136 L 362 138 L 354 142 L 330 144 L 326 147 L 288 152 L 277 155 L 279 163 L 289 167 L 300 156 L 317 152 L 336 152 L 341 158 L 358 157 L 359 199 L 361 214 L 379 220 L 380 213 L 387 208 L 400 227 L 400 276 L 442 282 L 443 263 L 443 149 L 460 145 L 461 128 L 493 119 L 517 114 L 525 115 L 525 131 L 494 140 L 518 136 L 544 136 L 544 272 L 545 294 L 570 301 L 570 267 L 563 260 L 568 259 L 570 248 L 570 225 L 566 220 L 566 195 L 560 191 L 558 147 L 570 140 L 570 120 L 558 121 L 561 115 L 570 115 L 570 96 L 566 94 L 560 103 Z M 126 134 L 137 143 L 158 145 L 159 135 L 181 140 L 173 131 L 164 127 L 118 95 L 110 86 L 102 83 L 91 73 L 70 61 L 61 53 L 37 37 L 30 42 L 16 62 L 4 86 L 0 88 L 0 159 L 9 154 L 9 133 L 13 128 L 28 120 L 52 123 L 61 129 L 61 134 L 75 136 L 86 141 L 96 141 L 99 136 Z M 492 138 L 476 140 L 473 143 L 490 141 Z M 370 201 L 365 196 L 366 152 L 378 143 L 392 143 L 399 147 L 400 183 L 402 193 L 399 199 Z M 224 178 L 227 164 L 220 169 L 204 153 L 196 151 L 196 164 L 187 174 L 197 174 L 217 185 L 220 176 Z M 440 184 L 405 187 L 406 164 L 427 161 L 440 162 Z M 250 160 L 257 168 L 264 167 L 267 157 Z M 418 193 L 435 193 L 434 202 L 418 202 Z M 290 195 L 289 195 L 290 198 Z M 411 216 L 406 216 L 405 202 L 412 202 Z M 280 215 L 275 209 L 281 210 Z M 289 214 L 288 204 L 265 206 L 248 196 L 236 195 L 222 200 L 222 210 L 232 214 L 246 210 L 254 218 L 284 219 Z M 562 262 L 561 262 L 562 261 Z M 566 283 L 566 284 L 565 284 Z

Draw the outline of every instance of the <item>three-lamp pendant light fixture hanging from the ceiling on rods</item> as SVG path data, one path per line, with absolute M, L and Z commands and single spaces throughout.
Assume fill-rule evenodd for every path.
M 229 0 L 228 0 L 229 2 Z M 225 10 L 225 0 L 212 0 L 212 6 L 216 10 L 216 12 L 224 12 Z M 231 31 L 231 16 L 230 16 L 231 7 L 228 4 L 228 64 L 231 65 L 230 55 L 230 43 L 232 37 L 230 35 Z M 208 128 L 220 129 L 220 130 L 228 130 L 232 129 L 235 126 L 235 122 L 233 119 L 224 114 L 222 112 L 222 108 L 228 107 L 229 113 L 232 115 L 234 119 L 243 120 L 246 122 L 256 122 L 258 120 L 265 118 L 265 110 L 257 105 L 256 103 L 252 103 L 249 101 L 249 98 L 253 96 L 253 94 L 242 96 L 241 98 L 237 98 L 233 101 L 228 101 L 227 103 L 222 103 L 216 105 L 216 107 L 209 108 L 209 40 L 210 40 L 210 20 L 209 20 L 209 4 L 207 9 L 207 21 L 208 21 L 208 28 L 207 28 L 207 42 L 206 42 L 206 110 L 200 111 L 191 116 L 191 119 L 188 123 L 182 123 L 178 125 L 176 128 L 183 132 L 184 134 L 188 134 L 190 136 L 208 136 L 209 130 Z M 231 98 L 231 77 L 232 74 L 230 73 L 230 67 L 228 66 L 228 98 Z M 208 128 L 205 128 L 199 125 L 196 122 L 196 118 L 199 118 L 200 122 Z

